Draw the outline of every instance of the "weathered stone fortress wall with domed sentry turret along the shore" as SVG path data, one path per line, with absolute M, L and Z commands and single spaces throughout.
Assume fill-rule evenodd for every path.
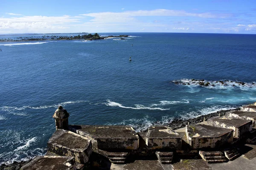
M 133 163 L 141 159 L 148 160 L 148 166 L 157 161 L 151 169 L 174 169 L 172 164 L 184 158 L 232 161 L 241 154 L 238 146 L 256 142 L 256 103 L 215 114 L 136 133 L 130 126 L 68 125 L 70 114 L 59 106 L 46 156 L 21 170 L 136 169 Z

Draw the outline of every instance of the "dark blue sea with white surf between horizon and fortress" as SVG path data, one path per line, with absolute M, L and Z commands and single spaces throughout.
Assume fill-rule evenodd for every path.
M 0 43 L 0 164 L 46 152 L 58 105 L 70 124 L 139 131 L 256 101 L 256 35 L 120 34 L 131 37 Z

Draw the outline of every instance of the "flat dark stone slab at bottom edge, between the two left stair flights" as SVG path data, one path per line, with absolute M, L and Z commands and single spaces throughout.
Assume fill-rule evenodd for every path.
M 126 164 L 124 170 L 163 170 L 163 167 L 157 160 L 135 160 Z

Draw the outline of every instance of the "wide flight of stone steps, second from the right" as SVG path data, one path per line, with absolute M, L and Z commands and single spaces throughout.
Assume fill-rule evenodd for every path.
M 206 151 L 199 151 L 199 155 L 206 161 L 207 163 L 221 163 L 227 162 L 228 160 L 224 156 L 224 153 L 220 151 L 213 151 L 213 152 L 206 152 Z

